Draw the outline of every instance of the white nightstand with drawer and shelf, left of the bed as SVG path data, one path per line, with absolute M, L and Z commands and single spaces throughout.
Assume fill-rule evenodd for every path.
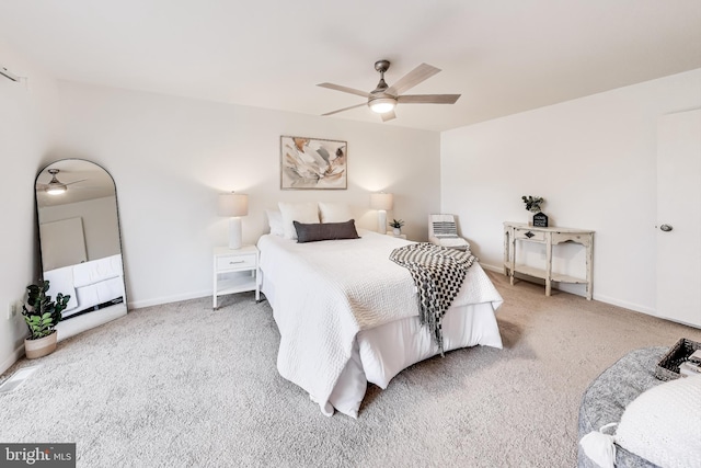
M 243 246 L 241 249 L 215 247 L 214 256 L 212 304 L 215 309 L 217 309 L 217 297 L 227 294 L 255 290 L 255 300 L 261 300 L 258 249 L 255 246 Z

